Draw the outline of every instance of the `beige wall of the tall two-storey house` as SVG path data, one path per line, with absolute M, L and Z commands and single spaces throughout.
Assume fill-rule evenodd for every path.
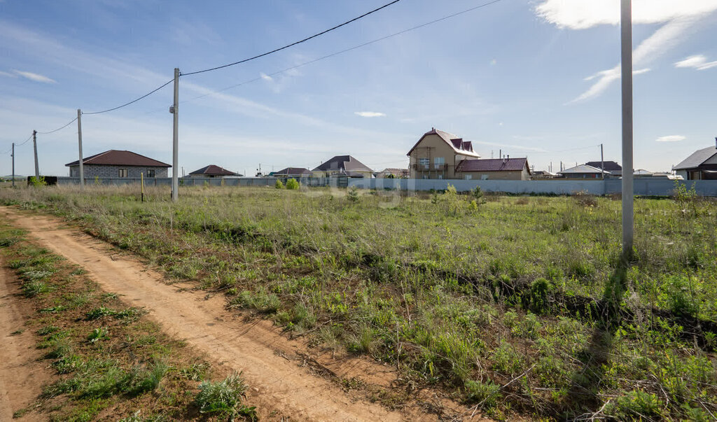
M 420 158 L 429 159 L 429 168 L 419 166 Z M 437 167 L 436 158 L 443 158 L 444 164 Z M 409 155 L 410 178 L 456 178 L 455 166 L 460 163 L 460 160 L 466 158 L 473 159 L 473 157 L 456 154 L 455 150 L 439 135 L 426 135 Z

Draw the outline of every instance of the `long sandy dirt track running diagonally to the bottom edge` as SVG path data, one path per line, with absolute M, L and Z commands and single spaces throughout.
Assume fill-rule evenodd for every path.
M 310 367 L 298 365 L 306 352 L 305 345 L 288 340 L 270 322 L 245 322 L 224 309 L 222 297 L 206 299 L 206 292 L 168 285 L 158 272 L 118 254 L 108 244 L 80 234 L 77 229 L 67 228 L 59 219 L 8 207 L 0 207 L 0 215 L 29 230 L 54 253 L 80 264 L 106 291 L 122 295 L 128 304 L 146 307 L 163 330 L 206 353 L 227 368 L 226 372 L 243 372 L 252 387 L 249 401 L 257 406 L 263 419 L 282 416 L 321 421 L 436 419 L 435 414 L 426 413 L 419 406 L 389 411 L 377 403 L 351 398 L 336 383 L 310 373 Z M 389 367 L 369 360 L 330 362 L 324 358 L 320 363 L 341 378 L 359 376 L 372 385 L 387 386 L 396 377 Z

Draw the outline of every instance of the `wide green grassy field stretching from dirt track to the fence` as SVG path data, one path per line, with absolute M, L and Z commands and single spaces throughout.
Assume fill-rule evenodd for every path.
M 217 187 L 181 188 L 172 204 L 166 189 L 141 203 L 134 187 L 88 186 L 0 198 L 315 347 L 391 363 L 408 393 L 442 388 L 498 419 L 717 415 L 717 204 L 688 189 L 636 200 L 629 263 L 607 197 Z

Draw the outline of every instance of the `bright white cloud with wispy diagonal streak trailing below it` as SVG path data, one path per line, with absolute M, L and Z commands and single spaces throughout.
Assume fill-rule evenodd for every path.
M 620 0 L 545 0 L 536 6 L 536 14 L 556 27 L 588 29 L 598 25 L 619 24 Z M 644 66 L 680 44 L 699 19 L 717 10 L 714 0 L 635 0 L 632 2 L 633 24 L 663 24 L 633 52 L 633 63 Z M 647 70 L 644 70 L 647 72 Z M 596 72 L 586 80 L 596 80 L 592 87 L 569 103 L 592 99 L 619 80 L 620 67 Z

